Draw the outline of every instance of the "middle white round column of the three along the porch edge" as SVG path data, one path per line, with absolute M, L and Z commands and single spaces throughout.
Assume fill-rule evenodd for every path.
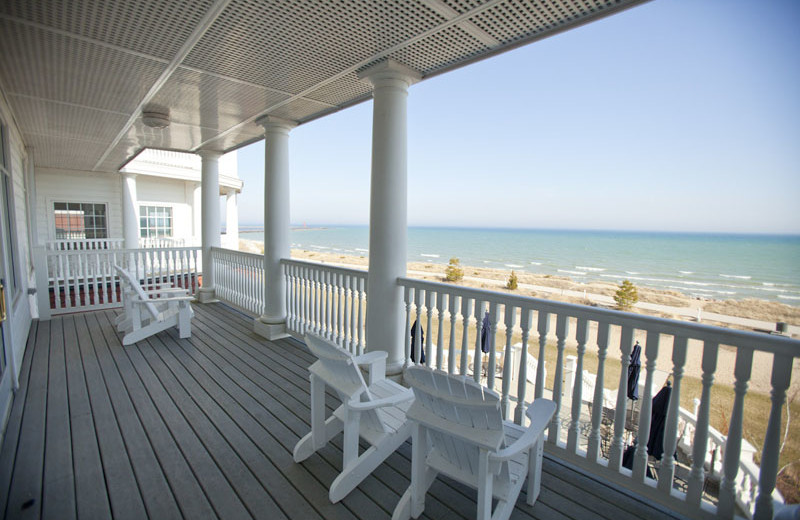
M 296 126 L 271 116 L 264 127 L 264 313 L 253 330 L 267 339 L 286 336 L 286 279 L 281 259 L 291 256 L 289 215 L 289 131 Z

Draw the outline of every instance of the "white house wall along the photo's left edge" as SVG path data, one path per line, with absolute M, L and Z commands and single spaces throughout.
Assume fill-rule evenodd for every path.
M 3 376 L 3 384 L 0 385 L 0 432 L 5 428 L 5 421 L 12 399 L 10 390 L 9 376 L 13 373 L 14 379 L 19 374 L 22 365 L 22 357 L 25 352 L 25 344 L 28 339 L 28 331 L 31 326 L 31 299 L 28 297 L 28 288 L 35 286 L 35 280 L 31 261 L 31 251 L 28 242 L 28 203 L 27 203 L 27 183 L 25 179 L 25 166 L 27 164 L 27 154 L 22 134 L 16 126 L 13 115 L 9 110 L 6 98 L 0 91 L 0 120 L 8 131 L 8 146 L 10 155 L 11 170 L 11 191 L 13 205 L 13 220 L 11 223 L 11 233 L 16 237 L 14 245 L 14 263 L 19 274 L 19 283 L 15 294 L 11 295 L 11 308 L 8 311 L 8 320 L 4 323 L 3 331 L 5 340 L 10 343 L 11 352 L 7 359 L 8 369 Z M 8 266 L 10 269 L 10 266 Z

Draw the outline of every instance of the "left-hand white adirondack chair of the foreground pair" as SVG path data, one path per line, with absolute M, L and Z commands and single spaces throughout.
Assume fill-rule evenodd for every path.
M 334 343 L 306 334 L 306 345 L 319 358 L 309 368 L 311 379 L 311 432 L 294 447 L 294 460 L 301 462 L 344 431 L 342 472 L 331 484 L 329 497 L 336 503 L 411 436 L 406 410 L 414 393 L 385 378 L 386 352 L 354 357 Z M 369 385 L 359 365 L 367 365 Z M 325 419 L 325 385 L 342 401 Z M 359 437 L 370 447 L 358 454 Z

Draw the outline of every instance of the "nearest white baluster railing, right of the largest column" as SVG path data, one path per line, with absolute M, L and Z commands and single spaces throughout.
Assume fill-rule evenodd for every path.
M 417 345 L 406 338 L 406 363 L 411 364 L 411 350 L 415 353 L 425 348 L 425 363 L 451 373 L 470 375 L 476 381 L 496 388 L 501 393 L 504 412 L 521 421 L 524 409 L 534 398 L 550 396 L 558 407 L 547 434 L 546 449 L 591 473 L 600 475 L 669 508 L 695 518 L 733 518 L 735 504 L 739 502 L 748 517 L 757 520 L 772 518 L 775 498 L 775 481 L 780 449 L 781 413 L 786 401 L 786 390 L 791 378 L 792 363 L 800 356 L 800 342 L 787 337 L 722 329 L 697 323 L 666 320 L 630 314 L 609 309 L 573 305 L 537 298 L 519 297 L 506 293 L 471 289 L 444 283 L 400 278 L 407 309 L 407 330 L 416 318 L 427 332 L 425 343 L 416 334 Z M 488 354 L 482 354 L 481 328 L 488 312 L 490 332 Z M 434 324 L 435 323 L 435 324 Z M 553 327 L 554 326 L 554 327 Z M 432 329 L 433 327 L 433 329 Z M 574 328 L 574 332 L 572 332 Z M 554 329 L 554 330 L 553 330 Z M 466 331 L 466 334 L 464 333 Z M 500 354 L 495 348 L 495 337 L 502 333 Z M 664 427 L 664 455 L 657 469 L 657 481 L 647 477 L 649 466 L 646 442 L 636 448 L 633 469 L 622 466 L 625 449 L 626 414 L 628 399 L 623 390 L 617 392 L 613 413 L 613 431 L 605 434 L 608 440 L 607 456 L 601 453 L 601 423 L 603 422 L 603 388 L 626 388 L 628 365 L 634 337 L 642 337 L 642 373 L 645 374 L 644 395 L 640 396 L 641 410 L 636 430 L 640 439 L 650 433 L 652 384 L 656 372 L 659 347 L 671 346 L 672 394 Z M 549 340 L 555 340 L 555 346 Z M 521 340 L 522 352 L 532 349 L 538 366 L 548 352 L 555 350 L 552 388 L 545 388 L 543 370 L 537 370 L 535 385 L 528 388 L 528 363 L 518 363 L 516 377 L 512 377 L 512 363 L 503 363 L 502 375 L 495 373 L 498 355 L 512 359 L 516 342 Z M 686 491 L 673 489 L 677 461 L 674 454 L 680 437 L 680 396 L 688 348 L 702 349 L 702 392 L 700 405 L 692 426 L 692 462 L 686 482 Z M 577 344 L 576 373 L 582 373 L 587 348 L 597 353 L 597 375 L 593 396 L 584 399 L 581 378 L 576 378 L 571 392 L 565 392 L 564 368 L 567 342 Z M 710 439 L 710 392 L 714 385 L 720 346 L 735 349 L 734 403 L 727 417 L 729 430 L 722 446 L 722 473 L 718 506 L 702 500 L 706 470 L 706 452 Z M 596 349 L 596 350 L 595 350 Z M 461 352 L 471 353 L 461 355 Z M 771 409 L 761 450 L 761 465 L 755 474 L 744 475 L 740 465 L 743 443 L 743 406 L 755 352 L 767 353 L 772 358 Z M 454 355 L 449 355 L 453 353 Z M 444 363 L 444 354 L 448 354 Z M 484 365 L 483 359 L 486 359 Z M 472 366 L 469 367 L 470 362 Z M 415 359 L 419 359 L 415 356 Z M 605 381 L 605 369 L 617 365 L 619 379 Z M 471 370 L 470 370 L 471 368 Z M 485 369 L 485 376 L 484 376 Z M 485 377 L 485 378 L 484 378 Z M 498 379 L 499 381 L 496 381 Z M 516 388 L 511 387 L 514 380 Z M 605 384 L 604 384 L 605 383 Z M 565 393 L 571 395 L 564 402 Z M 582 413 L 588 405 L 589 413 Z M 608 424 L 608 423 L 606 423 Z M 687 435 L 686 429 L 683 431 Z M 586 438 L 585 444 L 580 441 Z M 604 443 L 605 445 L 605 443 Z M 585 447 L 584 447 L 585 446 Z M 652 469 L 652 468 L 650 468 Z M 750 498 L 748 498 L 750 497 Z M 738 499 L 738 500 L 737 500 Z

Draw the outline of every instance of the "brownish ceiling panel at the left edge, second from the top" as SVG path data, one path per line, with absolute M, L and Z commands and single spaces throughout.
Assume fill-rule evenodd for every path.
M 131 113 L 164 64 L 0 19 L 8 94 Z

